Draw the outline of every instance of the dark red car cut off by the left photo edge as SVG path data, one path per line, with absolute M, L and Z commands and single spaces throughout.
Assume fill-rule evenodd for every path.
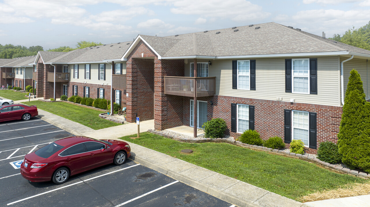
M 36 106 L 27 106 L 24 104 L 11 104 L 0 106 L 0 122 L 23 119 L 29 120 L 31 117 L 37 116 Z

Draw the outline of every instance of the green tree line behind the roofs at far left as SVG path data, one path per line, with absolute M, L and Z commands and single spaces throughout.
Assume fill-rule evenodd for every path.
M 71 48 L 69 46 L 60 46 L 59 48 L 48 49 L 46 51 L 70 52 L 75 49 L 82 49 L 82 48 L 87 48 L 87 47 L 96 46 L 96 45 L 102 45 L 102 43 L 101 42 L 80 41 L 80 42 L 77 42 L 76 48 Z M 22 45 L 12 45 L 12 44 L 1 45 L 0 44 L 0 58 L 2 59 L 13 59 L 16 57 L 33 56 L 33 55 L 37 55 L 38 51 L 44 51 L 44 48 L 41 47 L 40 45 L 31 46 L 27 48 L 26 46 L 22 46 Z

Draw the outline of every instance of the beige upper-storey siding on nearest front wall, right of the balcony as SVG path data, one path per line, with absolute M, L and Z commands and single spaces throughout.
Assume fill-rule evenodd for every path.
M 208 76 L 216 77 L 216 94 L 231 97 L 256 98 L 267 100 L 290 101 L 298 103 L 313 103 L 320 105 L 339 106 L 339 68 L 338 57 L 305 57 L 317 58 L 317 94 L 296 94 L 285 92 L 285 59 L 264 58 L 256 60 L 256 90 L 232 89 L 232 60 L 211 60 Z M 294 58 L 292 58 L 294 59 Z M 240 59 L 248 60 L 248 59 Z M 189 77 L 190 63 L 185 62 L 185 76 Z M 208 60 L 197 60 L 208 62 Z

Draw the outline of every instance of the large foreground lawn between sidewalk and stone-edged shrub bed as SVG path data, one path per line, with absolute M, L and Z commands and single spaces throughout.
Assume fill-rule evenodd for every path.
M 223 175 L 242 180 L 294 200 L 347 183 L 364 183 L 361 178 L 338 174 L 300 159 L 254 151 L 226 143 L 183 143 L 157 134 L 141 133 L 121 139 L 182 159 Z M 180 153 L 191 149 L 192 154 Z

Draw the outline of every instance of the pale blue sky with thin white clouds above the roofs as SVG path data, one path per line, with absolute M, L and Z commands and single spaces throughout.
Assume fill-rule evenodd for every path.
M 75 48 L 276 22 L 326 37 L 370 21 L 370 0 L 0 0 L 0 44 Z

